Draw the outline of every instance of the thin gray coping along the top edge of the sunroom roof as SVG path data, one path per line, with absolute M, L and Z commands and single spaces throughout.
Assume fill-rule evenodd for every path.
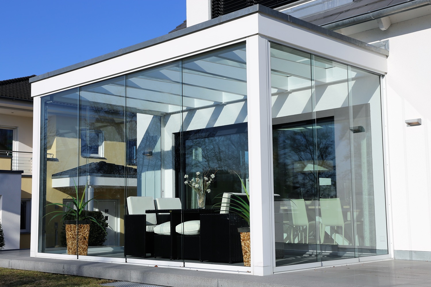
M 387 50 L 385 50 L 385 49 L 381 49 L 381 48 L 375 47 L 375 46 L 370 45 L 368 43 L 365 43 L 365 42 L 353 39 L 351 37 L 348 37 L 348 36 L 339 34 L 337 32 L 334 32 L 334 31 L 322 28 L 320 26 L 311 24 L 311 23 L 303 21 L 301 19 L 298 19 L 298 18 L 292 17 L 290 15 L 284 14 L 283 12 L 279 12 L 279 11 L 277 11 L 275 9 L 271 9 L 271 8 L 262 6 L 260 4 L 256 4 L 256 5 L 253 5 L 253 6 L 241 9 L 241 10 L 237 10 L 235 12 L 232 12 L 232 13 L 229 13 L 229 14 L 226 14 L 226 15 L 219 16 L 217 18 L 208 20 L 206 22 L 202 22 L 202 23 L 199 23 L 197 25 L 193 25 L 191 27 L 187 27 L 187 28 L 184 28 L 184 29 L 181 29 L 181 30 L 178 30 L 178 31 L 174 31 L 172 33 L 169 33 L 169 34 L 166 34 L 166 35 L 163 35 L 163 36 L 160 36 L 160 37 L 156 37 L 156 38 L 153 38 L 151 40 L 147 40 L 147 41 L 144 41 L 144 42 L 141 42 L 141 43 L 137 43 L 135 45 L 128 46 L 126 48 L 122 48 L 122 49 L 116 50 L 114 52 L 110 52 L 110 53 L 107 53 L 105 55 L 95 57 L 93 59 L 89 59 L 89 60 L 86 60 L 86 61 L 83 61 L 83 62 L 76 63 L 74 65 L 67 66 L 65 68 L 61 68 L 61 69 L 58 69 L 58 70 L 55 70 L 55 71 L 51 71 L 51 72 L 48 72 L 48 73 L 45 73 L 45 74 L 38 75 L 36 77 L 32 77 L 32 78 L 29 79 L 29 82 L 33 83 L 33 82 L 37 82 L 39 80 L 43 80 L 43 79 L 46 79 L 46 78 L 49 78 L 49 77 L 53 77 L 53 76 L 56 76 L 56 75 L 59 75 L 59 74 L 64 74 L 64 73 L 67 73 L 67 72 L 70 72 L 70 71 L 73 71 L 73 70 L 77 70 L 79 68 L 83 68 L 83 67 L 86 67 L 86 66 L 89 66 L 89 65 L 96 64 L 98 62 L 103 62 L 103 61 L 106 61 L 106 60 L 109 60 L 109 59 L 112 59 L 112 58 L 116 58 L 118 56 L 122 56 L 122 55 L 128 54 L 130 52 L 134 52 L 134 51 L 137 51 L 137 50 L 140 50 L 140 49 L 147 48 L 149 46 L 153 46 L 153 45 L 156 45 L 156 44 L 159 44 L 159 43 L 162 43 L 162 42 L 166 42 L 168 40 L 172 40 L 172 39 L 175 39 L 175 38 L 178 38 L 178 37 L 182 37 L 184 35 L 191 34 L 191 33 L 194 33 L 194 32 L 197 32 L 197 31 L 200 31 L 200 30 L 212 27 L 212 26 L 220 25 L 220 24 L 222 24 L 224 22 L 232 21 L 234 19 L 239 19 L 239 18 L 242 18 L 242 17 L 247 16 L 247 15 L 251 15 L 251 14 L 254 14 L 254 13 L 266 14 L 266 15 L 272 16 L 274 18 L 283 20 L 285 22 L 290 22 L 290 23 L 293 23 L 295 25 L 299 25 L 299 26 L 302 26 L 304 28 L 307 28 L 307 29 L 310 29 L 310 30 L 313 30 L 313 31 L 316 31 L 316 32 L 319 32 L 319 33 L 322 33 L 322 34 L 325 34 L 325 35 L 327 35 L 329 37 L 333 37 L 333 38 L 336 38 L 336 39 L 339 39 L 339 40 L 343 40 L 345 42 L 352 43 L 352 44 L 360 46 L 362 48 L 369 49 L 369 50 L 372 50 L 374 52 L 378 52 L 378 53 L 383 54 L 385 56 L 389 55 L 389 52 Z

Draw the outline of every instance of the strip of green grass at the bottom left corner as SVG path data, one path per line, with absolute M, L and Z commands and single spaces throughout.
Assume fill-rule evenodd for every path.
M 0 286 L 2 287 L 100 287 L 99 284 L 109 282 L 113 281 L 72 275 L 0 268 Z

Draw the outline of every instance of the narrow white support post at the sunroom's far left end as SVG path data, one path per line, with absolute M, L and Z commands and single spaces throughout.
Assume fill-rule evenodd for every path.
M 41 97 L 33 98 L 33 168 L 31 180 L 30 257 L 36 257 L 39 244 L 39 176 L 41 167 Z M 43 139 L 42 139 L 43 140 Z

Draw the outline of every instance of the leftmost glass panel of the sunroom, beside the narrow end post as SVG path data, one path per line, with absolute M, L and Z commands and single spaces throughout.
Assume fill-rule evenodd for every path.
M 62 211 L 78 166 L 78 89 L 42 98 L 39 252 L 67 254 Z M 71 241 L 76 247 L 76 240 Z M 72 250 L 72 249 L 71 249 Z

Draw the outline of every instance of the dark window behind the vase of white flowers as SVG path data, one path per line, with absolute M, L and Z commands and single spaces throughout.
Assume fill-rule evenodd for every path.
M 217 180 L 211 184 L 211 192 L 206 194 L 209 207 L 221 202 L 220 194 L 225 190 L 244 192 L 235 173 L 248 185 L 247 136 L 247 123 L 175 133 L 175 170 L 191 176 L 198 171 L 216 172 Z M 181 198 L 186 208 L 194 208 L 196 194 L 181 188 L 183 176 L 177 173 L 176 197 Z

